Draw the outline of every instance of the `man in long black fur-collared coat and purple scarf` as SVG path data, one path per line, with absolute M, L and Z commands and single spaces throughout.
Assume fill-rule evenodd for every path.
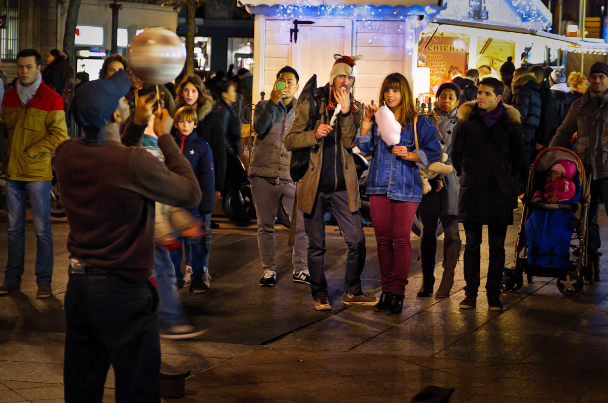
M 488 306 L 502 311 L 500 282 L 505 268 L 506 227 L 513 224 L 513 172 L 523 149 L 523 129 L 517 109 L 502 103 L 503 84 L 496 78 L 479 83 L 477 102 L 458 109 L 452 163 L 460 177 L 458 222 L 465 226 L 465 299 L 460 308 L 477 303 L 480 285 L 480 246 L 488 225 Z

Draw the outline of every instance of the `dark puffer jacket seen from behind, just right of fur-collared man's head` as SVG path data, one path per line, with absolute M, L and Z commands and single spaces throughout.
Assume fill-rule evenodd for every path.
M 513 89 L 511 106 L 517 109 L 521 115 L 523 141 L 525 147 L 530 149 L 541 124 L 541 97 L 538 94 L 540 87 L 536 77 L 526 73 L 513 80 L 511 88 Z

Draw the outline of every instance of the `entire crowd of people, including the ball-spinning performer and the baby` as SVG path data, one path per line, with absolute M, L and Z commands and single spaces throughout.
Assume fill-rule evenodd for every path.
M 357 101 L 353 87 L 362 56 L 334 57 L 327 83 L 316 87 L 309 81 L 298 99 L 299 74 L 285 66 L 269 99 L 255 105 L 249 176 L 258 217 L 260 286 L 278 280 L 274 222 L 282 204 L 292 224 L 292 280 L 310 286 L 311 308 L 331 310 L 324 260 L 325 212 L 330 211 L 347 245 L 342 303 L 399 314 L 412 260 L 410 228 L 418 214 L 423 281 L 417 296 L 450 296 L 462 223 L 466 286 L 459 306 L 475 308 L 486 225 L 486 297 L 489 310 L 501 311 L 506 229 L 513 224 L 534 155 L 548 146 L 573 148 L 591 169 L 589 255 L 599 260 L 599 195 L 608 200 L 606 63 L 593 64 L 590 81 L 572 73 L 568 82 L 564 69 L 516 69 L 510 59 L 500 66 L 500 80 L 489 66 L 464 74 L 454 68 L 437 89 L 434 109 L 423 115 L 416 110 L 410 81 L 400 73 L 384 78 L 377 104 Z M 83 137 L 67 140 L 60 93 L 72 72 L 65 62 L 52 51 L 43 70 L 38 52 L 22 50 L 18 81 L 2 100 L 0 119 L 6 126 L 0 158 L 9 241 L 0 294 L 21 288 L 24 209 L 30 200 L 36 297 L 52 295 L 49 198 L 55 154 L 69 224 L 66 401 L 83 396 L 100 401 L 110 364 L 117 401 L 160 401 L 159 337 L 204 332 L 187 323 L 178 288 L 189 283 L 190 292 L 205 293 L 211 286 L 213 203 L 223 192 L 226 160 L 238 154 L 240 138 L 231 105 L 237 90 L 250 90 L 252 75 L 237 72 L 238 84 L 208 74 L 205 80 L 182 76 L 153 86 L 139 80 L 122 56 L 109 55 L 98 80 L 81 76 L 70 113 Z M 371 158 L 366 192 L 378 245 L 378 296 L 361 287 L 366 245 L 355 147 Z M 421 170 L 438 161 L 447 171 L 426 183 Z M 563 193 L 568 169 L 553 166 L 555 183 L 537 189 L 534 201 Z M 438 222 L 445 237 L 435 290 Z

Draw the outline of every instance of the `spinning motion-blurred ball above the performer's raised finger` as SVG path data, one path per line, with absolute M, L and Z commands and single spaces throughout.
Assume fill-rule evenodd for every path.
M 164 84 L 184 69 L 186 50 L 174 32 L 151 27 L 131 39 L 126 60 L 133 74 L 143 82 Z

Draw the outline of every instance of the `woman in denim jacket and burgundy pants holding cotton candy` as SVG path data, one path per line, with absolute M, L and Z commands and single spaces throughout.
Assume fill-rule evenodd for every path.
M 440 159 L 441 146 L 433 124 L 416 117 L 412 89 L 403 75 L 388 75 L 379 98 L 379 106 L 365 106 L 357 140 L 361 151 L 373 155 L 367 194 L 382 284 L 374 311 L 397 314 L 403 308 L 412 260 L 410 230 L 422 199 L 419 169 Z

